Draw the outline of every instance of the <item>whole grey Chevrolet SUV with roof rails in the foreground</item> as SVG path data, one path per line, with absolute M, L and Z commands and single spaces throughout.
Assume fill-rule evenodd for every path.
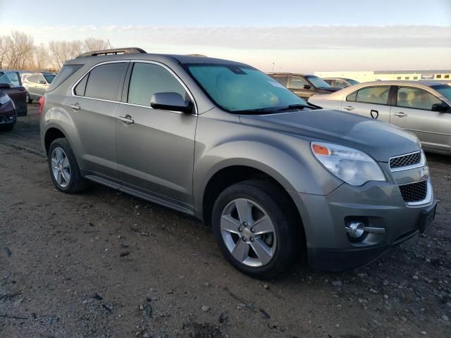
M 238 270 L 271 278 L 368 263 L 435 215 L 419 140 L 316 110 L 249 65 L 116 49 L 66 62 L 41 100 L 51 179 L 89 181 L 211 225 Z

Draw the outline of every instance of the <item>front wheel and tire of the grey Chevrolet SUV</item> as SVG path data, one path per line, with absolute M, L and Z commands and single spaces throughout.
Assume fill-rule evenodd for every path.
M 212 223 L 226 259 L 242 273 L 268 280 L 288 270 L 297 258 L 295 213 L 275 184 L 248 180 L 225 189 L 216 200 Z

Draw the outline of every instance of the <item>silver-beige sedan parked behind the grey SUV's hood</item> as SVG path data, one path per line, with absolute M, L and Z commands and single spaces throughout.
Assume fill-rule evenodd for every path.
M 451 86 L 447 84 L 365 82 L 312 96 L 309 103 L 392 123 L 416 134 L 425 150 L 451 155 Z

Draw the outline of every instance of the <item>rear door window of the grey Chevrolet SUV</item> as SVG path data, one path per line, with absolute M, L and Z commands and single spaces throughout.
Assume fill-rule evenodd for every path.
M 98 65 L 89 72 L 85 96 L 117 101 L 119 90 L 123 87 L 126 70 L 127 63 L 125 62 Z

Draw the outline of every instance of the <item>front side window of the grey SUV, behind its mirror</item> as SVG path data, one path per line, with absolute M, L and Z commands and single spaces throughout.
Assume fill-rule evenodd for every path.
M 128 87 L 128 103 L 150 106 L 155 93 L 178 93 L 186 101 L 190 100 L 185 88 L 161 65 L 135 63 Z

